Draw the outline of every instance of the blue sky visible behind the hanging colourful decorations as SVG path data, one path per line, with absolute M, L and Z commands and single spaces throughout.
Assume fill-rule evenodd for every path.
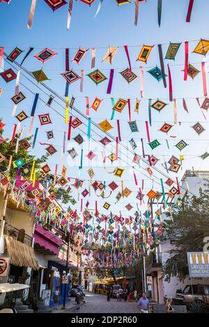
M 117 136 L 117 127 L 116 120 L 121 120 L 121 136 L 122 141 L 125 145 L 128 145 L 128 141 L 130 138 L 134 138 L 138 147 L 137 154 L 141 154 L 141 143 L 140 139 L 144 138 L 145 152 L 146 154 L 153 154 L 157 159 L 160 159 L 159 163 L 157 163 L 157 168 L 162 170 L 164 174 L 167 175 L 167 171 L 162 167 L 162 163 L 164 158 L 166 161 L 169 161 L 171 155 L 175 155 L 179 157 L 180 154 L 185 156 L 185 161 L 183 162 L 183 169 L 179 170 L 178 177 L 180 179 L 181 175 L 183 175 L 185 169 L 192 168 L 194 169 L 206 169 L 208 166 L 208 159 L 202 161 L 198 158 L 199 155 L 203 154 L 208 148 L 208 120 L 205 120 L 199 106 L 196 102 L 195 97 L 200 98 L 200 102 L 203 101 L 201 99 L 203 97 L 203 87 L 202 87 L 202 77 L 201 73 L 192 81 L 188 77 L 188 80 L 183 81 L 183 67 L 184 67 L 184 44 L 181 45 L 178 54 L 176 56 L 176 61 L 164 61 L 165 69 L 167 72 L 167 63 L 169 63 L 171 67 L 171 75 L 173 81 L 173 96 L 177 99 L 177 109 L 178 109 L 178 121 L 181 122 L 181 127 L 176 125 L 171 129 L 170 135 L 178 135 L 176 138 L 169 138 L 169 149 L 166 144 L 167 135 L 163 134 L 161 131 L 158 131 L 160 127 L 164 124 L 164 122 L 169 122 L 171 125 L 173 124 L 173 104 L 169 103 L 169 90 L 164 89 L 162 81 L 158 83 L 153 77 L 146 72 L 151 67 L 155 67 L 155 65 L 160 66 L 159 56 L 157 47 L 153 47 L 151 51 L 150 57 L 148 58 L 148 63 L 145 65 L 139 61 L 136 61 L 137 56 L 141 50 L 142 45 L 157 45 L 162 44 L 163 54 L 165 56 L 167 47 L 169 42 L 184 42 L 185 40 L 192 41 L 189 42 L 189 62 L 192 63 L 197 69 L 201 70 L 201 61 L 207 61 L 207 57 L 204 58 L 199 54 L 192 54 L 194 47 L 197 44 L 196 40 L 200 40 L 200 38 L 209 38 L 208 35 L 208 1 L 199 0 L 194 1 L 194 8 L 192 12 L 192 19 L 190 23 L 185 22 L 185 17 L 187 15 L 187 6 L 189 1 L 178 0 L 172 1 L 167 0 L 163 1 L 162 6 L 162 25 L 161 28 L 157 25 L 157 1 L 148 0 L 147 3 L 139 3 L 139 22 L 138 26 L 134 26 L 134 1 L 132 3 L 123 5 L 118 7 L 116 5 L 116 1 L 114 0 L 104 0 L 100 13 L 97 17 L 94 18 L 95 12 L 97 10 L 98 1 L 95 0 L 95 3 L 89 8 L 85 3 L 81 1 L 75 1 L 73 11 L 72 11 L 72 21 L 70 25 L 70 31 L 67 31 L 67 6 L 63 6 L 63 8 L 56 10 L 55 13 L 46 5 L 44 1 L 37 0 L 36 4 L 36 12 L 34 15 L 33 26 L 31 30 L 27 29 L 27 20 L 29 16 L 29 9 L 31 6 L 31 1 L 24 0 L 12 0 L 9 5 L 5 3 L 1 3 L 0 5 L 0 16 L 1 16 L 1 46 L 5 47 L 5 51 L 7 54 L 12 51 L 14 47 L 19 47 L 24 50 L 24 53 L 18 58 L 17 62 L 21 62 L 24 54 L 29 49 L 29 47 L 34 47 L 32 54 L 26 59 L 24 63 L 24 67 L 30 72 L 33 70 L 38 70 L 43 67 L 43 70 L 49 77 L 49 81 L 46 81 L 47 86 L 56 90 L 56 93 L 59 93 L 63 97 L 65 91 L 65 81 L 63 77 L 61 77 L 61 72 L 65 71 L 65 48 L 70 48 L 70 59 L 74 56 L 77 49 L 79 47 L 84 47 L 88 49 L 88 52 L 81 64 L 75 65 L 74 63 L 70 63 L 70 67 L 74 69 L 78 74 L 80 74 L 81 69 L 85 70 L 85 74 L 91 72 L 91 47 L 96 47 L 96 63 L 95 67 L 101 70 L 101 72 L 109 78 L 109 70 L 110 68 L 115 69 L 114 74 L 114 84 L 111 91 L 111 95 L 107 95 L 107 84 L 108 80 L 101 83 L 100 86 L 95 86 L 94 83 L 88 78 L 84 78 L 84 92 L 79 92 L 79 81 L 72 84 L 70 86 L 69 95 L 74 95 L 76 97 L 75 106 L 77 109 L 82 111 L 82 113 L 86 113 L 86 99 L 85 97 L 90 97 L 90 104 L 93 102 L 93 99 L 97 96 L 101 99 L 102 104 L 98 112 L 95 112 L 91 109 L 91 118 L 96 123 L 101 122 L 105 118 L 110 120 L 111 118 L 111 99 L 110 97 L 114 97 L 114 99 L 118 99 L 119 97 L 123 99 L 130 98 L 131 99 L 131 108 L 132 108 L 132 120 L 137 120 L 137 125 L 139 127 L 139 133 L 131 133 L 130 128 L 127 124 L 128 113 L 127 106 L 123 110 L 122 113 L 116 113 L 115 119 L 111 121 L 111 125 L 114 129 L 111 129 L 110 133 L 113 136 Z M 8 23 L 13 22 L 13 23 Z M 125 68 L 127 68 L 127 58 L 125 56 L 125 51 L 123 49 L 123 45 L 134 46 L 129 47 L 130 59 L 132 62 L 132 69 L 139 76 L 139 66 L 142 65 L 144 67 L 144 84 L 145 84 L 145 99 L 141 101 L 139 115 L 134 113 L 134 103 L 135 99 L 138 97 L 140 99 L 140 85 L 139 85 L 139 77 L 130 85 L 127 84 L 121 74 L 118 74 Z M 102 63 L 102 58 L 107 50 L 108 46 L 120 46 L 116 57 L 112 65 L 110 66 L 108 63 Z M 50 49 L 56 51 L 58 54 L 52 60 L 47 61 L 44 65 L 40 63 L 33 56 L 37 54 L 41 49 L 45 47 L 49 47 Z M 4 67 L 8 68 L 10 65 L 4 62 Z M 208 64 L 206 64 L 207 68 L 207 79 L 208 79 Z M 33 105 L 34 95 L 33 93 L 40 93 L 40 98 L 47 102 L 49 91 L 42 88 L 42 90 L 38 90 L 36 87 L 36 83 L 31 84 L 31 82 L 24 77 L 26 74 L 24 72 L 21 73 L 20 81 L 29 88 L 26 90 L 24 86 L 21 86 L 20 90 L 22 93 L 26 95 L 26 99 L 17 107 L 17 113 L 24 110 L 28 115 L 30 115 L 31 108 Z M 17 122 L 16 118 L 13 118 L 10 115 L 10 112 L 13 109 L 13 104 L 10 100 L 14 95 L 15 82 L 10 82 L 6 84 L 3 79 L 0 81 L 0 88 L 3 89 L 3 95 L 1 97 L 1 117 L 3 118 L 3 122 L 6 123 L 5 136 L 10 137 L 12 134 L 13 124 Z M 44 92 L 47 94 L 45 94 Z M 189 113 L 186 113 L 183 109 L 183 100 L 185 98 L 187 102 L 187 107 Z M 161 145 L 157 147 L 153 152 L 150 150 L 148 141 L 146 139 L 146 129 L 145 129 L 145 120 L 148 120 L 148 99 L 153 99 L 154 102 L 157 98 L 162 99 L 164 102 L 167 102 L 168 105 L 165 109 L 162 110 L 161 113 L 157 111 L 152 111 L 152 120 L 153 124 L 150 127 L 150 138 L 154 140 L 157 138 Z M 63 103 L 56 99 L 57 103 L 54 103 L 52 107 L 59 111 L 59 113 L 64 114 L 64 108 L 62 106 Z M 59 105 L 61 104 L 61 106 Z M 10 111 L 10 112 L 9 112 Z M 57 154 L 54 154 L 49 160 L 49 166 L 54 171 L 55 164 L 59 164 L 59 173 L 61 173 L 60 166 L 60 156 L 61 156 L 61 146 L 63 143 L 63 131 L 67 131 L 68 127 L 64 123 L 64 118 L 61 118 L 60 115 L 54 112 L 52 109 L 48 109 L 47 106 L 43 104 L 43 102 L 39 101 L 37 106 L 37 115 L 40 113 L 49 113 L 52 118 L 53 125 L 47 125 L 46 127 L 40 127 L 40 123 L 38 121 L 38 117 L 34 121 L 33 125 L 33 133 L 36 127 L 38 130 L 38 138 L 36 142 L 36 147 L 34 149 L 34 153 L 43 154 L 45 153 L 45 147 L 39 145 L 39 142 L 48 143 L 45 131 L 49 131 L 50 129 L 54 130 L 55 139 L 53 141 L 54 146 L 58 150 Z M 208 119 L 208 115 L 204 112 L 206 118 Z M 80 117 L 79 117 L 80 118 Z M 28 130 L 30 119 L 24 120 L 22 122 L 22 127 L 26 126 L 26 131 Z M 85 120 L 83 119 L 85 122 Z M 195 131 L 191 128 L 195 122 L 201 122 L 201 125 L 206 129 L 206 131 L 198 136 Z M 87 127 L 82 125 L 82 131 L 86 133 Z M 96 135 L 95 132 L 98 132 L 100 135 Z M 84 133 L 75 129 L 72 131 L 72 137 L 75 137 L 79 132 L 82 136 L 85 136 Z M 99 141 L 105 135 L 102 134 L 97 129 L 93 129 L 92 136 L 96 141 Z M 183 139 L 188 146 L 180 152 L 175 145 Z M 67 166 L 67 176 L 69 177 L 79 177 L 81 180 L 89 180 L 88 173 L 86 170 L 93 166 L 95 170 L 95 177 L 93 180 L 102 180 L 106 181 L 106 184 L 109 184 L 112 180 L 114 180 L 118 184 L 118 189 L 114 191 L 114 193 L 107 199 L 107 202 L 111 204 L 111 211 L 114 214 L 118 214 L 119 211 L 125 216 L 129 214 L 133 214 L 135 209 L 137 209 L 137 191 L 139 187 L 141 187 L 141 180 L 144 179 L 144 193 L 147 193 L 152 187 L 155 191 L 161 191 L 159 183 L 159 178 L 163 178 L 165 181 L 166 178 L 159 173 L 154 173 L 153 181 L 150 180 L 147 176 L 144 175 L 145 171 L 142 168 L 137 168 L 137 180 L 139 186 L 134 185 L 134 178 L 132 169 L 129 166 L 132 166 L 132 155 L 130 152 L 127 152 L 123 159 L 130 163 L 129 166 L 125 165 L 124 161 L 119 161 L 115 166 L 119 166 L 121 168 L 125 168 L 125 173 L 123 174 L 123 184 L 124 187 L 132 189 L 132 195 L 130 198 L 124 198 L 118 205 L 114 205 L 116 202 L 115 196 L 118 191 L 121 191 L 121 180 L 118 177 L 114 177 L 114 175 L 107 173 L 113 171 L 114 168 L 111 167 L 110 161 L 107 160 L 108 167 L 107 170 L 102 168 L 102 160 L 101 160 L 101 149 L 98 148 L 93 142 L 91 145 L 91 149 L 98 156 L 94 159 L 94 161 L 84 160 L 84 166 L 81 171 L 78 170 L 80 154 L 82 147 L 76 147 L 75 141 L 71 141 L 70 144 L 66 143 L 67 149 L 75 147 L 77 153 L 79 154 L 76 161 L 72 161 L 70 156 L 65 155 L 64 163 Z M 107 148 L 108 149 L 108 148 Z M 113 148 L 109 147 L 109 151 L 114 152 L 115 144 L 113 143 Z M 88 153 L 89 145 L 88 143 L 84 143 L 84 156 Z M 120 151 L 125 152 L 124 148 L 121 147 Z M 109 152 L 107 150 L 107 155 Z M 143 164 L 141 164 L 143 166 Z M 144 166 L 146 168 L 146 166 Z M 154 172 L 154 170 L 153 170 Z M 146 174 L 146 173 L 145 173 Z M 146 174 L 147 175 L 147 174 Z M 172 179 L 176 179 L 176 174 L 169 175 Z M 88 189 L 88 182 L 84 182 L 84 189 Z M 73 188 L 72 195 L 75 199 L 78 199 L 77 191 Z M 107 196 L 109 196 L 109 188 L 107 188 Z M 110 189 L 109 189 L 110 190 Z M 81 195 L 79 196 L 79 201 L 77 205 L 75 205 L 74 209 L 77 208 L 79 212 L 80 208 L 80 199 L 83 198 Z M 106 212 L 102 206 L 104 205 L 104 200 L 101 197 L 96 197 L 94 195 L 93 189 L 91 189 L 91 202 L 90 207 L 94 208 L 94 201 L 98 200 L 98 209 L 99 212 Z M 84 198 L 84 204 L 86 202 L 86 198 Z M 133 209 L 128 212 L 125 208 L 125 205 L 128 203 L 132 203 Z M 146 207 L 142 208 L 142 211 Z M 139 208 L 140 209 L 140 208 Z

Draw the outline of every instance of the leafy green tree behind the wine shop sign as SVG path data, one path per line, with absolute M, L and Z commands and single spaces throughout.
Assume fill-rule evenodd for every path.
M 166 280 L 176 276 L 184 280 L 188 274 L 187 252 L 203 251 L 203 239 L 209 236 L 209 184 L 199 196 L 185 196 L 173 205 L 172 218 L 165 221 L 167 237 L 175 240 L 169 251 L 169 260 L 164 264 Z M 168 215 L 169 216 L 169 215 Z

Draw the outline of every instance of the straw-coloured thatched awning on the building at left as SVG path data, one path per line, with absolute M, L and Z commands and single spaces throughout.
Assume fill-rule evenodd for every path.
M 31 246 L 27 246 L 7 235 L 4 235 L 4 237 L 6 239 L 6 248 L 11 264 L 14 264 L 15 266 L 30 267 L 34 270 L 39 269 L 36 255 Z

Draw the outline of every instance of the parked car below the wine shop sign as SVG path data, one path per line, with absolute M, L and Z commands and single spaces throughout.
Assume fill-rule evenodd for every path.
M 183 291 L 177 289 L 176 299 L 189 303 L 192 301 L 205 301 L 209 296 L 209 285 L 187 285 Z

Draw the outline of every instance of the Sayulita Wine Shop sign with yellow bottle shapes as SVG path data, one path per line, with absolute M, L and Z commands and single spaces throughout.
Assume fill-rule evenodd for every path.
M 187 252 L 189 277 L 209 277 L 209 252 Z

